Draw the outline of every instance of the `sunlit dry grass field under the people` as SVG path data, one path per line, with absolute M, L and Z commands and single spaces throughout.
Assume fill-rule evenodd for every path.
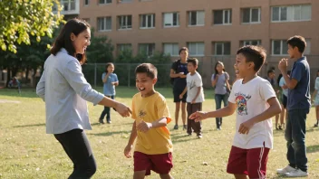
M 167 98 L 173 116 L 171 89 L 158 91 Z M 116 99 L 130 105 L 131 97 L 136 92 L 133 88 L 118 88 Z M 206 90 L 206 99 L 203 109 L 214 109 L 212 89 Z M 131 178 L 133 161 L 124 157 L 123 149 L 130 137 L 133 120 L 121 118 L 112 111 L 112 124 L 100 125 L 97 121 L 102 106 L 88 104 L 93 130 L 87 131 L 87 136 L 98 164 L 93 178 Z M 308 178 L 319 178 L 319 129 L 312 127 L 314 118 L 312 108 L 307 119 L 306 134 Z M 221 131 L 216 130 L 214 118 L 205 120 L 202 139 L 194 135 L 186 137 L 186 131 L 172 130 L 173 126 L 174 122 L 169 124 L 174 145 L 174 168 L 171 174 L 175 178 L 233 178 L 227 174 L 226 166 L 235 132 L 235 115 L 224 118 Z M 274 130 L 274 137 L 267 178 L 281 178 L 275 174 L 275 170 L 287 165 L 284 131 Z M 72 162 L 62 146 L 53 135 L 45 134 L 44 103 L 36 97 L 34 89 L 23 89 L 21 96 L 14 89 L 0 89 L 0 178 L 62 179 L 67 178 L 72 170 Z M 148 178 L 159 178 L 159 175 L 152 173 Z

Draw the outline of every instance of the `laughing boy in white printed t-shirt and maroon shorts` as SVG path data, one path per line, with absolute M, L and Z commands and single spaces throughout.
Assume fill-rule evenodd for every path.
M 228 106 L 211 112 L 198 111 L 190 116 L 195 121 L 221 118 L 237 112 L 236 134 L 230 151 L 227 173 L 236 178 L 266 178 L 266 162 L 273 147 L 272 120 L 281 112 L 275 91 L 269 81 L 257 76 L 266 51 L 247 45 L 237 51 L 237 80 L 231 90 Z

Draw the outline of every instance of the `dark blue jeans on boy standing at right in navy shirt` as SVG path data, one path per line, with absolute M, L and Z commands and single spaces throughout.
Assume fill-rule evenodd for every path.
M 288 119 L 285 127 L 285 140 L 287 141 L 287 160 L 289 165 L 307 171 L 305 138 L 305 120 L 309 109 L 288 110 Z

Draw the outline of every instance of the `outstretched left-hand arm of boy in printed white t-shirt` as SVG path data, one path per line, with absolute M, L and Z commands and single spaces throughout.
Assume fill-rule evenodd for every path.
M 232 115 L 235 110 L 236 110 L 237 105 L 232 102 L 228 102 L 227 107 L 225 108 L 220 108 L 215 111 L 210 111 L 210 112 L 203 112 L 203 111 L 198 111 L 189 116 L 189 119 L 193 119 L 196 122 L 200 120 L 204 120 L 206 118 L 223 118 Z

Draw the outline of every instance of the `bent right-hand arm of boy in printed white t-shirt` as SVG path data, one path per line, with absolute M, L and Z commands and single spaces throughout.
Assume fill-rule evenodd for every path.
M 238 132 L 240 134 L 248 134 L 250 128 L 253 127 L 256 123 L 266 120 L 268 118 L 272 118 L 276 114 L 279 114 L 281 112 L 281 106 L 277 98 L 273 97 L 271 99 L 268 99 L 267 103 L 270 107 L 267 108 L 264 112 L 240 124 L 238 129 Z

